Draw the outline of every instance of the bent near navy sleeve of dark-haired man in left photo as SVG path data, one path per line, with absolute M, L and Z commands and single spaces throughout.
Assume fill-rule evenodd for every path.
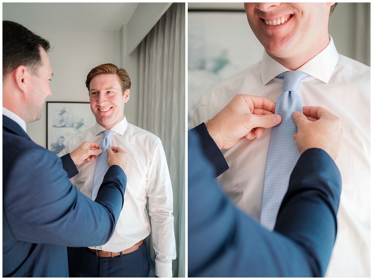
M 71 247 L 98 246 L 112 236 L 123 206 L 126 175 L 111 166 L 95 201 L 69 181 L 62 161 L 30 148 L 11 164 L 3 207 L 18 240 Z

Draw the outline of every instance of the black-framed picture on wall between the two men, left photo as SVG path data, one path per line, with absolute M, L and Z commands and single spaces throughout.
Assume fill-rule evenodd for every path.
M 47 149 L 63 156 L 69 140 L 94 124 L 90 102 L 47 101 Z

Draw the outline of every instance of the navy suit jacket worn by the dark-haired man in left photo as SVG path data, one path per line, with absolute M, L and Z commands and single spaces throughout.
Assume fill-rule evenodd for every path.
M 111 166 L 92 201 L 71 184 L 77 173 L 69 154 L 60 159 L 3 116 L 3 277 L 68 277 L 66 246 L 110 239 L 126 175 Z

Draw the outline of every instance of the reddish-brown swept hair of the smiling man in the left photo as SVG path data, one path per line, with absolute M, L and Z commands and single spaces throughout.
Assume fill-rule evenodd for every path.
M 85 80 L 85 86 L 87 87 L 88 92 L 90 90 L 90 83 L 92 78 L 100 74 L 116 74 L 122 86 L 123 95 L 126 89 L 129 89 L 131 87 L 131 79 L 129 79 L 126 70 L 124 70 L 123 68 L 118 68 L 112 63 L 105 63 L 96 66 L 95 68 L 91 69 L 90 73 L 88 73 L 87 80 Z

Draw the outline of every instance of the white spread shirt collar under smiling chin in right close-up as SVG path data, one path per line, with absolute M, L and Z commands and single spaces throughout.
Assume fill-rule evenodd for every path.
M 307 61 L 298 68 L 298 71 L 309 74 L 316 79 L 328 83 L 338 61 L 338 52 L 335 48 L 333 38 L 329 35 L 329 44 L 316 56 Z M 290 71 L 288 68 L 275 61 L 268 55 L 266 50 L 263 52 L 263 59 L 260 64 L 260 75 L 263 84 L 267 84 L 282 72 Z

